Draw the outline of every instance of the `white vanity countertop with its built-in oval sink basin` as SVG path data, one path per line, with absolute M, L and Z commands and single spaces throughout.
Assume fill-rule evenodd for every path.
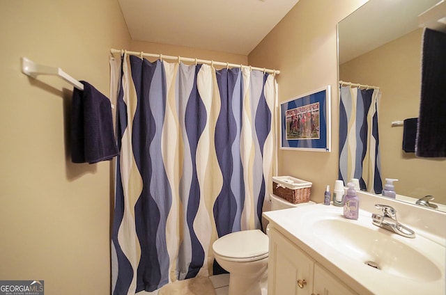
M 373 225 L 362 209 L 357 221 L 344 218 L 342 207 L 322 204 L 264 216 L 360 294 L 445 294 L 445 238 L 411 228 L 404 218 L 399 222 L 415 231 L 414 239 Z

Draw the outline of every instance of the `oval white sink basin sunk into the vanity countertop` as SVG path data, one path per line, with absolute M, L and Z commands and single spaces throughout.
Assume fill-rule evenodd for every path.
M 346 259 L 401 278 L 420 281 L 441 278 L 438 266 L 420 250 L 403 244 L 388 230 L 376 229 L 345 218 L 318 220 L 312 225 L 314 235 L 330 247 L 343 249 Z

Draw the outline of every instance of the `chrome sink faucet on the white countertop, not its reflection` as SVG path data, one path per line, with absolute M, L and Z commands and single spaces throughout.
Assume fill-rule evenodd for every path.
M 415 238 L 415 232 L 402 225 L 397 220 L 397 210 L 393 207 L 387 205 L 375 205 L 376 209 L 381 209 L 383 215 L 371 214 L 371 222 L 379 226 L 380 228 L 384 228 L 385 230 L 390 230 L 391 232 L 395 232 L 403 237 Z

